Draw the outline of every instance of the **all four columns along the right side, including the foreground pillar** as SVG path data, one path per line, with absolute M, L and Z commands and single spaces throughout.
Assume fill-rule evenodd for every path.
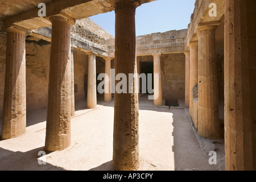
M 226 170 L 256 169 L 256 1 L 225 0 L 225 164 Z M 239 11 L 238 11 L 239 10 Z M 193 111 L 198 84 L 197 127 L 204 138 L 220 137 L 216 70 L 216 24 L 199 26 L 198 41 L 186 55 L 185 105 Z M 193 116 L 192 118 L 195 118 Z M 196 119 L 195 119 L 196 120 Z

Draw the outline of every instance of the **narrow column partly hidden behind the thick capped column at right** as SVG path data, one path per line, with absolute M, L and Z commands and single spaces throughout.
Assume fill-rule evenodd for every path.
M 189 80 L 189 114 L 193 118 L 193 86 L 198 84 L 198 42 L 193 41 L 189 43 L 190 48 L 190 80 Z M 196 120 L 196 119 L 193 119 Z M 194 121 L 196 122 L 196 121 Z M 197 123 L 195 123 L 197 126 Z

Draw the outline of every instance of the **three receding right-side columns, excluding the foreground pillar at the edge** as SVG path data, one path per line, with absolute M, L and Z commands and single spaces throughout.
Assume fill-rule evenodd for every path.
M 215 30 L 216 25 L 199 26 L 198 41 L 189 43 L 186 52 L 185 104 L 189 106 L 199 135 L 220 138 Z M 189 71 L 188 71 L 189 70 Z M 195 113 L 193 88 L 198 85 L 198 113 Z M 189 90 L 189 91 L 188 91 Z

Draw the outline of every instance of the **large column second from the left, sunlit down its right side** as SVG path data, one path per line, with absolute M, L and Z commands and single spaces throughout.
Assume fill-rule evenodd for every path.
M 46 122 L 46 151 L 71 144 L 71 26 L 74 20 L 52 16 L 49 88 Z

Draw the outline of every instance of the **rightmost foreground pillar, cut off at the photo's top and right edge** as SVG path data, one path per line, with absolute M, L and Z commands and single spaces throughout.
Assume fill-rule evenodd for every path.
M 256 170 L 256 1 L 226 0 L 226 170 Z

